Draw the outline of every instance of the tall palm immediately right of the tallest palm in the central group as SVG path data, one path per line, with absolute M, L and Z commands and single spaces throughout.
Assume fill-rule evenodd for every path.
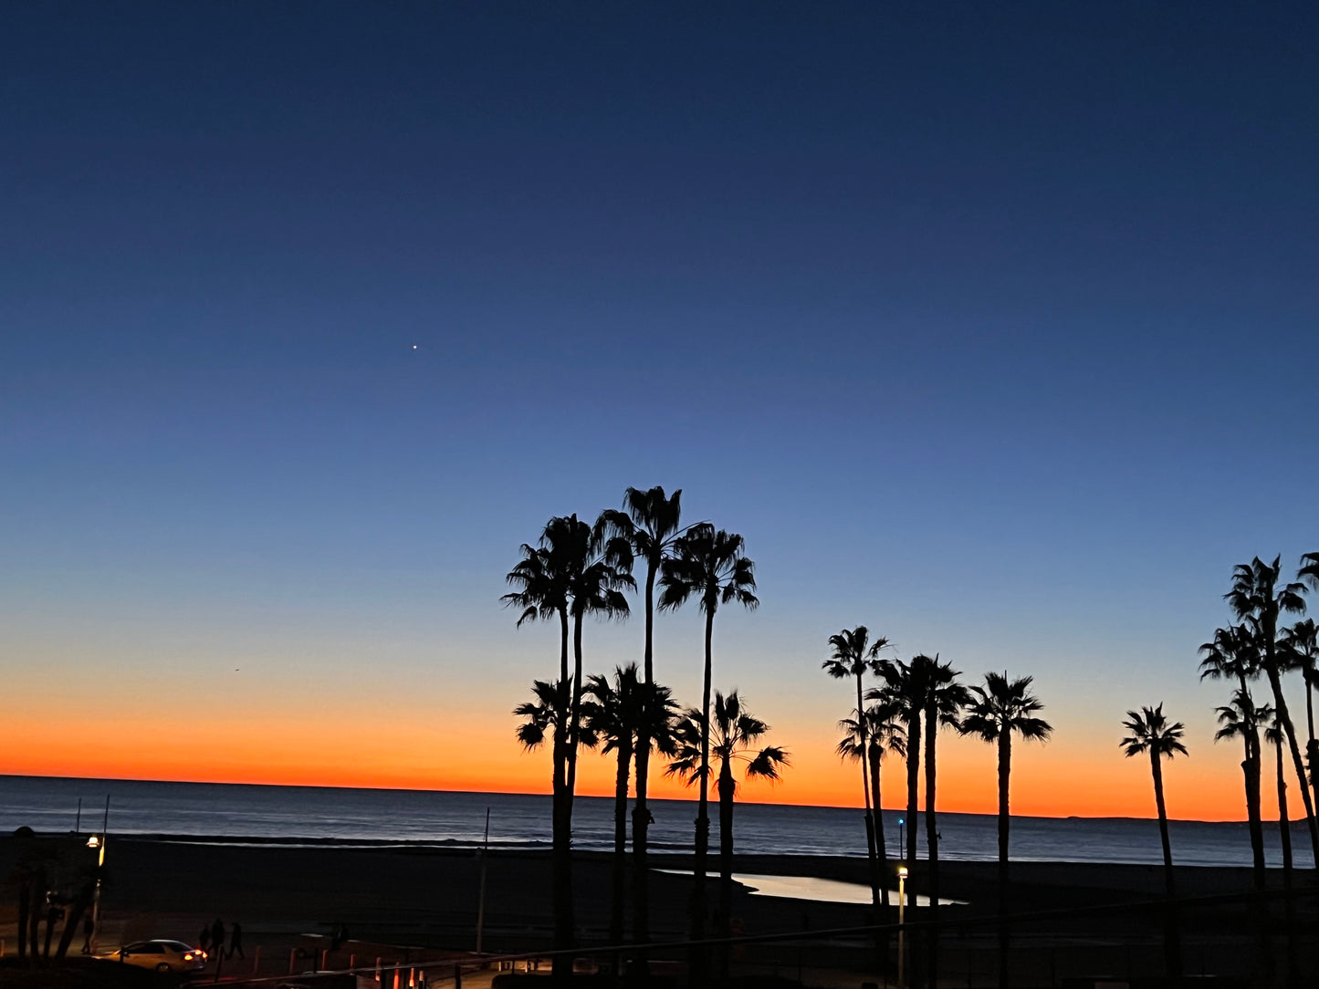
M 673 611 L 695 597 L 706 616 L 706 666 L 702 678 L 700 778 L 696 798 L 696 849 L 691 898 L 691 939 L 706 934 L 706 858 L 710 853 L 710 683 L 714 675 L 711 645 L 715 612 L 723 604 L 756 608 L 756 564 L 747 558 L 740 535 L 716 530 L 708 522 L 691 526 L 674 545 L 674 555 L 663 560 L 660 574 L 660 611 Z M 692 953 L 698 977 L 703 974 L 700 952 Z

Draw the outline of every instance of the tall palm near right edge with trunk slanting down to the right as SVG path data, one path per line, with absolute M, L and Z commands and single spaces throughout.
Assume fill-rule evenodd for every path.
M 1306 824 L 1310 828 L 1310 844 L 1319 862 L 1319 822 L 1315 820 L 1315 804 L 1310 795 L 1310 779 L 1306 773 L 1301 746 L 1297 742 L 1297 729 L 1287 712 L 1287 699 L 1282 694 L 1282 663 L 1278 657 L 1278 618 L 1281 614 L 1299 613 L 1306 608 L 1304 584 L 1289 583 L 1278 585 L 1282 571 L 1282 558 L 1265 563 L 1256 556 L 1249 563 L 1237 564 L 1232 574 L 1232 589 L 1224 595 L 1228 607 L 1239 620 L 1244 620 L 1254 633 L 1260 645 L 1260 659 L 1273 691 L 1274 717 L 1287 736 L 1291 761 L 1301 782 L 1302 803 L 1306 807 Z

